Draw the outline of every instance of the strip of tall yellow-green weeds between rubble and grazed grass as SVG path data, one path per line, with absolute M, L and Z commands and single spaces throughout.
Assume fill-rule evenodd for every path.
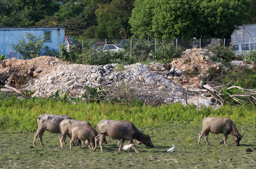
M 3 96 L 1 93 L 0 96 Z M 2 98 L 1 97 L 1 98 Z M 62 97 L 62 95 L 61 95 Z M 20 100 L 16 97 L 0 100 L 0 128 L 24 130 L 34 132 L 37 128 L 36 118 L 40 114 L 65 114 L 77 120 L 89 121 L 92 126 L 102 119 L 128 120 L 138 127 L 160 127 L 169 125 L 172 121 L 183 124 L 185 121 L 194 121 L 197 124 L 205 117 L 229 117 L 236 124 L 255 124 L 255 107 L 241 106 L 240 108 L 221 107 L 217 111 L 212 108 L 202 108 L 198 112 L 194 106 L 182 106 L 179 103 L 169 106 L 139 106 L 132 108 L 119 104 L 99 105 L 89 103 L 87 115 L 87 102 L 72 104 L 57 99 L 37 98 L 35 100 Z

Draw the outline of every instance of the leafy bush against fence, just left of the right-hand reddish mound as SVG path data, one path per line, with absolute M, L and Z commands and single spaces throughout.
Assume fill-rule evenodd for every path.
M 182 51 L 184 51 L 183 47 L 176 47 L 173 43 L 168 43 L 157 49 L 153 55 L 158 61 L 170 63 L 172 62 L 173 58 L 180 58 L 182 56 Z

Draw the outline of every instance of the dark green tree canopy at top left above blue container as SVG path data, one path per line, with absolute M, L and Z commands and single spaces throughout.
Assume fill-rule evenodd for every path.
M 35 26 L 45 16 L 59 10 L 55 0 L 0 1 L 0 26 Z

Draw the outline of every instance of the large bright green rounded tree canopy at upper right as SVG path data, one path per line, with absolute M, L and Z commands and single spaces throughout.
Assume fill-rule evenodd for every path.
M 224 38 L 242 25 L 251 0 L 136 0 L 129 23 L 138 38 Z

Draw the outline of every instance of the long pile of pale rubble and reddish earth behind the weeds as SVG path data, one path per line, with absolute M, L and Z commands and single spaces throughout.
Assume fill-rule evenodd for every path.
M 174 59 L 172 63 L 165 65 L 150 63 L 149 66 L 136 63 L 125 66 L 125 70 L 122 71 L 114 71 L 117 64 L 103 66 L 69 64 L 49 56 L 40 56 L 31 60 L 12 58 L 4 60 L 5 67 L 0 68 L 2 86 L 0 89 L 2 91 L 13 89 L 16 79 L 13 74 L 10 75 L 10 71 L 15 67 L 19 70 L 19 76 L 33 75 L 19 90 L 21 92 L 24 89 L 33 90 L 32 96 L 49 97 L 54 95 L 57 90 L 62 89 L 68 96 L 79 97 L 86 92 L 85 86 L 98 87 L 113 84 L 118 86 L 125 81 L 130 88 L 137 91 L 136 95 L 139 99 L 149 104 L 155 105 L 156 100 L 158 101 L 157 105 L 185 103 L 187 86 L 198 89 L 198 76 L 203 76 L 210 67 L 220 68 L 219 63 L 212 61 L 212 56 L 214 54 L 208 53 L 207 49 L 187 49 L 181 58 Z M 199 74 L 197 77 L 187 76 L 184 72 L 188 70 L 196 70 Z M 122 79 L 118 78 L 120 75 L 122 75 Z M 197 104 L 195 102 L 197 94 L 198 91 L 187 93 L 188 103 Z M 200 94 L 202 95 L 202 93 Z M 211 95 L 201 95 L 200 105 L 212 105 Z M 205 98 L 205 96 L 209 97 Z

